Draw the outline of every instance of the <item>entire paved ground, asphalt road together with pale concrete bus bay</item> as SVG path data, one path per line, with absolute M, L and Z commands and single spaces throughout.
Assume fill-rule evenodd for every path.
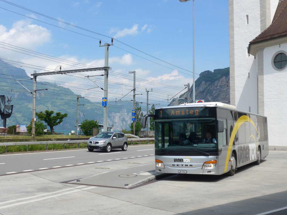
M 232 177 L 149 181 L 153 147 L 0 155 L 0 214 L 287 214 L 287 151 L 269 151 Z M 125 187 L 134 181 L 146 183 Z

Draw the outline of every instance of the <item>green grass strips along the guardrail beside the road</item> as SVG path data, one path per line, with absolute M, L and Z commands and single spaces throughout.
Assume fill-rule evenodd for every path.
M 34 139 L 31 136 L 24 136 L 24 135 L 9 135 L 9 136 L 0 136 L 0 142 L 18 142 L 18 141 L 38 141 L 38 140 L 47 140 L 50 139 L 53 141 L 53 139 L 73 139 L 73 138 L 90 138 L 91 136 L 79 136 L 76 137 L 74 135 L 42 135 L 42 136 L 36 136 Z M 154 144 L 154 141 L 141 141 L 140 144 Z M 131 142 L 128 142 L 129 145 L 138 145 L 139 141 L 133 141 L 133 144 Z M 77 143 L 69 143 L 65 144 L 65 149 L 73 149 L 78 148 Z M 79 143 L 79 148 L 87 148 L 86 143 Z M 29 145 L 28 151 L 45 151 L 46 145 L 45 144 L 37 144 L 37 145 Z M 47 150 L 63 150 L 63 144 L 48 144 Z M 7 146 L 7 153 L 20 153 L 20 152 L 26 152 L 27 151 L 27 145 L 19 145 L 19 146 Z M 0 154 L 5 153 L 5 146 L 0 146 Z

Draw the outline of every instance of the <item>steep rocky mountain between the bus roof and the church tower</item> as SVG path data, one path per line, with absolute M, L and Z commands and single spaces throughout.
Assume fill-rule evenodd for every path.
M 170 105 L 179 105 L 187 102 L 188 91 L 173 99 Z M 193 87 L 190 89 L 190 102 L 192 102 Z M 229 67 L 224 69 L 215 69 L 200 73 L 199 78 L 195 80 L 195 99 L 205 102 L 221 101 L 230 104 L 230 79 Z

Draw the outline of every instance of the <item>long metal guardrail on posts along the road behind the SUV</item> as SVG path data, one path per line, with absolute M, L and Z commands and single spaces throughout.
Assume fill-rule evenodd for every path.
M 128 142 L 130 141 L 131 144 L 134 142 L 140 142 L 141 141 L 154 141 L 154 138 L 128 138 Z M 36 142 L 1 142 L 0 146 L 5 146 L 5 153 L 7 153 L 7 146 L 22 146 L 27 145 L 27 151 L 29 151 L 29 145 L 42 145 L 46 144 L 46 150 L 48 150 L 48 144 L 63 144 L 63 149 L 65 149 L 65 144 L 69 143 L 77 143 L 78 148 L 80 143 L 86 143 L 88 142 L 88 139 L 86 140 L 60 140 L 60 141 L 36 141 Z

